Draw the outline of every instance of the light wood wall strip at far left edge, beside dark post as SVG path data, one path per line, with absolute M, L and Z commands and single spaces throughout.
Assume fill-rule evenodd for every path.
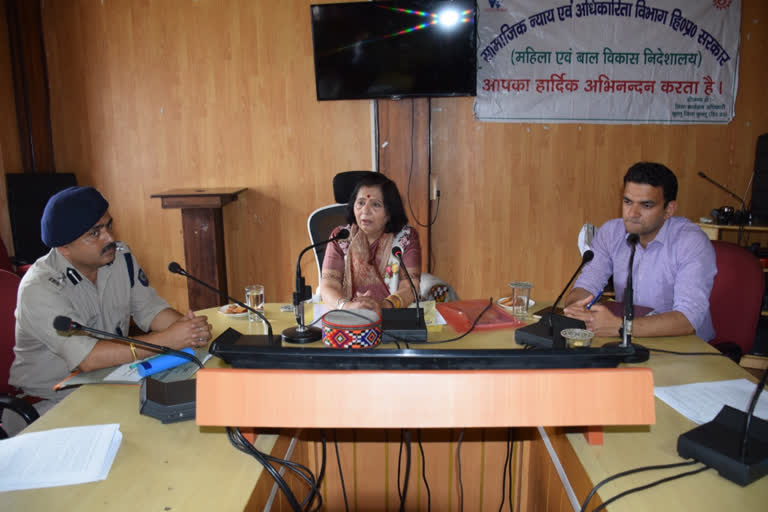
M 0 238 L 13 254 L 13 237 L 8 213 L 5 175 L 21 172 L 23 164 L 19 146 L 19 127 L 16 121 L 16 102 L 13 93 L 11 49 L 5 8 L 0 8 Z

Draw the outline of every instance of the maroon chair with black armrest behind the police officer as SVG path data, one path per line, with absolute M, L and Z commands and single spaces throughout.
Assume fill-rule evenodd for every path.
M 11 363 L 13 363 L 13 346 L 16 343 L 16 295 L 19 291 L 21 278 L 13 272 L 0 270 L 0 439 L 6 439 L 8 434 L 2 428 L 3 412 L 9 409 L 29 425 L 40 415 L 31 404 L 17 397 L 16 389 L 8 384 Z

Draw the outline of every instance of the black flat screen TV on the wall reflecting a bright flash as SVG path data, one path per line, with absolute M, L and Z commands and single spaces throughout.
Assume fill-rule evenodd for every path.
M 318 100 L 475 95 L 474 1 L 320 4 L 311 16 Z

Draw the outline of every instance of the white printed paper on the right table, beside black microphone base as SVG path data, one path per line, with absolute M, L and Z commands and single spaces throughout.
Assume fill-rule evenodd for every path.
M 712 421 L 724 405 L 746 412 L 756 388 L 754 382 L 737 379 L 657 387 L 654 394 L 689 420 L 701 425 Z M 768 420 L 766 393 L 760 395 L 755 416 Z

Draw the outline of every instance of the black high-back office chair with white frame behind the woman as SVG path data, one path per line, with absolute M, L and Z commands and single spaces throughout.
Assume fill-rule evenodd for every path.
M 346 208 L 352 192 L 355 190 L 357 180 L 371 171 L 346 171 L 333 177 L 333 198 L 336 204 L 323 206 L 309 214 L 307 219 L 307 231 L 312 244 L 328 240 L 331 231 L 337 226 L 347 223 Z M 317 262 L 317 275 L 322 275 L 323 259 L 326 246 L 315 247 L 315 261 Z M 453 287 L 437 276 L 423 272 L 419 286 L 421 300 L 434 300 L 436 302 L 450 302 L 459 300 Z

